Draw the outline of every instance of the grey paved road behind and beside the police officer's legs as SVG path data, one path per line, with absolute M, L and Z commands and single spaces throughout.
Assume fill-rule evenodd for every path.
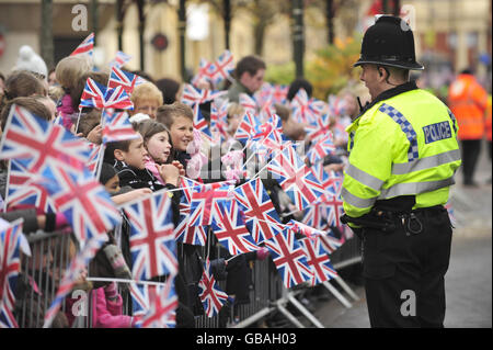
M 451 194 L 457 221 L 449 270 L 445 276 L 447 313 L 445 327 L 492 327 L 492 176 L 486 150 L 480 159 L 477 189 L 461 185 L 460 171 Z M 369 327 L 365 293 L 353 285 L 360 301 L 345 308 L 335 300 L 318 305 L 314 315 L 329 328 Z

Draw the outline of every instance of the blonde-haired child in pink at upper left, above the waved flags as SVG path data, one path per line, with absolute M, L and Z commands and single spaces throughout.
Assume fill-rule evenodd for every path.
M 68 129 L 73 124 L 72 115 L 77 115 L 79 106 L 79 103 L 74 101 L 73 94 L 76 93 L 80 78 L 90 70 L 91 66 L 89 61 L 78 56 L 62 58 L 55 68 L 56 80 L 65 92 L 58 103 L 57 110 L 61 114 L 62 125 Z

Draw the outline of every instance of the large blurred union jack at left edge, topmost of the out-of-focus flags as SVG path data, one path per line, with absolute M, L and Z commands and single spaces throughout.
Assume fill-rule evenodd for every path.
M 16 104 L 10 110 L 0 149 L 0 159 L 15 158 L 31 173 L 49 165 L 81 170 L 90 154 L 82 139 Z

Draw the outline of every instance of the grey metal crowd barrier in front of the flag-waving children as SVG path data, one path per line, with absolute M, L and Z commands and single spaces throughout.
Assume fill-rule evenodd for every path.
M 25 290 L 24 295 L 18 297 L 15 317 L 21 328 L 38 328 L 43 327 L 44 312 L 49 307 L 57 292 L 58 283 L 61 280 L 65 269 L 69 266 L 71 258 L 76 255 L 76 245 L 71 240 L 71 236 L 67 234 L 45 234 L 36 233 L 28 236 L 32 250 L 31 257 L 23 256 L 22 271 L 20 282 L 31 285 Z M 72 241 L 72 244 L 71 244 Z M 202 257 L 205 259 L 210 249 L 219 248 L 216 245 L 215 236 L 211 235 L 210 247 L 202 248 Z M 339 271 L 347 266 L 360 261 L 360 242 L 356 237 L 348 239 L 342 247 L 332 252 L 331 261 Z M 185 262 L 186 263 L 186 262 Z M 22 281 L 21 281 L 22 280 Z M 254 261 L 252 269 L 253 289 L 250 291 L 250 303 L 241 305 L 232 305 L 230 308 L 229 323 L 227 327 L 248 327 L 255 321 L 263 319 L 274 311 L 280 312 L 295 326 L 302 327 L 286 308 L 287 303 L 294 304 L 305 316 L 311 320 L 317 327 L 320 324 L 309 312 L 297 303 L 296 295 L 309 287 L 300 287 L 286 290 L 283 286 L 280 276 L 271 262 L 271 259 Z M 33 283 L 35 282 L 35 283 Z M 332 281 L 331 281 L 332 282 Z M 349 296 L 355 298 L 351 289 L 342 280 L 335 281 L 347 292 Z M 226 290 L 226 281 L 219 281 L 222 291 Z M 346 307 L 351 307 L 335 287 L 331 284 L 325 285 L 331 293 L 334 294 Z M 73 294 L 71 294 L 73 295 Z M 71 296 L 69 295 L 69 296 Z M 87 313 L 83 317 L 78 317 L 72 327 L 90 327 L 91 321 L 91 293 L 88 293 Z M 131 297 L 128 292 L 122 293 L 124 298 L 124 314 L 131 315 Z M 66 312 L 66 306 L 61 305 L 60 311 Z M 197 328 L 217 328 L 219 327 L 219 317 L 195 316 L 195 326 Z M 54 324 L 53 327 L 57 327 Z M 61 327 L 61 325 L 59 326 Z

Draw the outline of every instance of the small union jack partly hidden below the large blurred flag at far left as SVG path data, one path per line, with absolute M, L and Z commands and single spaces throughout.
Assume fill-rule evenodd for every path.
M 36 181 L 36 176 L 25 171 L 11 159 L 9 165 L 7 207 L 36 207 L 44 213 L 54 213 L 55 207 L 46 189 Z

